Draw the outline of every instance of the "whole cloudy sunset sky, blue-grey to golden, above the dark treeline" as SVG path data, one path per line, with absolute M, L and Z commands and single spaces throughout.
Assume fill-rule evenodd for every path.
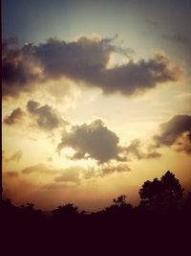
M 3 194 L 97 211 L 191 189 L 191 1 L 2 1 Z

